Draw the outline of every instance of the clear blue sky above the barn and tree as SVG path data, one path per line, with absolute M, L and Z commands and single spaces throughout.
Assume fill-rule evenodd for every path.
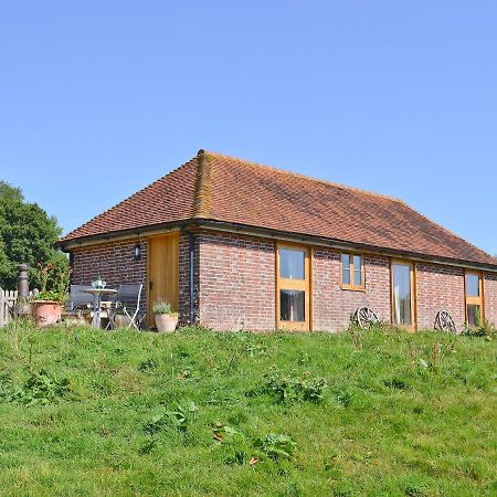
M 64 231 L 220 151 L 497 253 L 497 2 L 0 2 L 0 179 Z

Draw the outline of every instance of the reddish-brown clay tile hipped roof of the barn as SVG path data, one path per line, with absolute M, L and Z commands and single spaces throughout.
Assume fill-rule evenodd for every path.
M 203 150 L 61 242 L 191 219 L 497 266 L 398 199 Z

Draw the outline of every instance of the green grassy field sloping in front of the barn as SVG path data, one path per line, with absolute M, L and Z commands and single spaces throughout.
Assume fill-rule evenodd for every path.
M 0 493 L 496 495 L 496 341 L 0 330 Z

